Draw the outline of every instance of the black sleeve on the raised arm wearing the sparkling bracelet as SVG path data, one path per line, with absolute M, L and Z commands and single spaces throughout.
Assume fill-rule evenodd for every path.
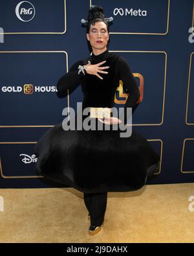
M 69 94 L 76 89 L 76 87 L 80 86 L 81 78 L 84 76 L 82 72 L 78 75 L 78 66 L 83 65 L 82 60 L 78 60 L 75 62 L 69 69 L 69 72 L 63 75 L 56 85 L 57 88 L 57 96 L 59 98 L 67 97 L 67 89 L 69 89 Z

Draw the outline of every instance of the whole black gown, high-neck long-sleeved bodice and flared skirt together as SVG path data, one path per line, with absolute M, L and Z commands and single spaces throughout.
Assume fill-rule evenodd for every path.
M 103 80 L 87 73 L 78 74 L 78 66 L 86 65 L 88 60 L 91 64 L 106 60 L 100 65 L 109 66 L 109 69 L 103 69 L 108 74 L 99 73 Z M 119 80 L 123 82 L 125 93 L 129 93 L 125 108 L 134 108 L 140 92 L 125 58 L 108 50 L 98 55 L 92 53 L 86 60 L 72 65 L 59 79 L 57 95 L 66 97 L 67 89 L 72 93 L 81 85 L 82 110 L 87 107 L 113 108 Z M 83 121 L 90 118 L 89 115 L 82 117 Z M 96 118 L 95 122 L 98 125 L 100 121 Z M 126 123 L 124 119 L 123 124 Z M 117 124 L 103 124 L 103 130 L 63 130 L 60 123 L 48 129 L 34 148 L 38 156 L 38 174 L 85 193 L 140 189 L 146 184 L 150 170 L 152 174 L 158 172 L 160 157 L 134 128 L 130 137 L 120 137 L 120 129 L 112 129 L 115 125 L 118 127 Z M 106 130 L 105 126 L 110 129 Z

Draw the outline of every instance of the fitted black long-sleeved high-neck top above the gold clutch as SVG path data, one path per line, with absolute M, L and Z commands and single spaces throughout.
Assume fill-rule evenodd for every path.
M 87 74 L 86 71 L 85 75 L 82 72 L 78 75 L 78 66 L 87 65 L 89 60 L 91 64 L 98 64 L 106 60 L 104 64 L 100 65 L 100 67 L 109 66 L 108 69 L 103 69 L 103 71 L 108 72 L 107 74 L 99 73 L 103 79 L 96 75 Z M 69 93 L 72 93 L 76 87 L 81 85 L 83 108 L 113 108 L 114 95 L 116 88 L 119 86 L 119 80 L 123 82 L 125 93 L 129 94 L 125 102 L 125 108 L 133 108 L 140 97 L 140 91 L 127 60 L 108 50 L 98 55 L 92 52 L 86 60 L 78 60 L 74 63 L 69 72 L 59 79 L 56 85 L 57 95 L 59 98 L 66 97 L 68 95 L 67 89 L 69 89 Z

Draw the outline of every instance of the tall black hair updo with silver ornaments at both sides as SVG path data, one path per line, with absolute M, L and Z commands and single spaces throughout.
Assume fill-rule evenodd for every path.
M 111 21 L 113 21 L 113 17 L 105 18 L 103 14 L 103 8 L 100 5 L 92 5 L 89 8 L 89 13 L 87 16 L 87 21 L 85 19 L 81 19 L 81 23 L 84 27 L 87 27 L 87 33 L 91 28 L 91 24 L 94 25 L 97 21 L 103 21 L 107 25 L 107 31 L 109 33 L 109 26 L 112 25 Z M 107 49 L 109 47 L 110 36 L 109 40 L 107 41 Z M 89 47 L 89 51 L 92 52 L 92 47 L 90 41 L 87 40 L 87 45 Z

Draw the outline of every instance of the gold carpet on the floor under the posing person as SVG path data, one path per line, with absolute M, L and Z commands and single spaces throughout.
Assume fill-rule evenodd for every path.
M 190 196 L 194 183 L 108 192 L 103 229 L 90 236 L 82 192 L 0 189 L 0 242 L 194 242 Z

